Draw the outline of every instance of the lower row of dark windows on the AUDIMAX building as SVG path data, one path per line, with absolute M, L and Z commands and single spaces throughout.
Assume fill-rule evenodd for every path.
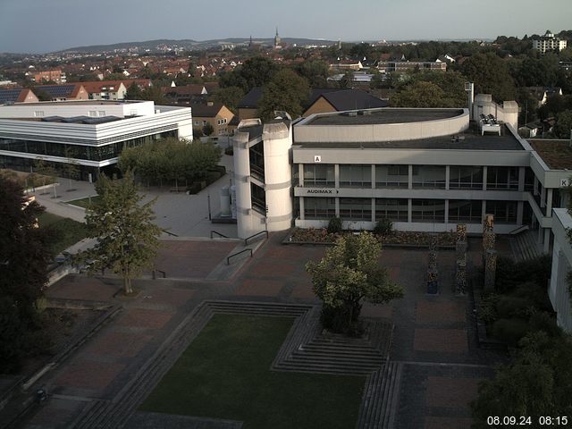
M 387 218 L 393 222 L 408 222 L 408 199 L 404 198 L 340 198 L 340 217 L 347 221 L 375 221 Z M 497 223 L 517 223 L 516 201 L 486 201 L 486 212 L 494 214 Z M 336 216 L 335 198 L 304 198 L 304 217 L 307 220 L 328 220 Z M 450 223 L 480 223 L 483 216 L 483 201 L 449 200 Z M 412 199 L 413 222 L 443 223 L 445 200 Z

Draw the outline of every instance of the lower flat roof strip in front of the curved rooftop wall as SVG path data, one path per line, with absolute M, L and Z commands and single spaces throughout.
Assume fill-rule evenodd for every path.
M 355 119 L 355 118 L 351 118 Z M 477 130 L 467 130 L 460 134 L 415 140 L 372 141 L 372 142 L 303 142 L 296 140 L 294 128 L 294 145 L 303 148 L 376 148 L 376 149 L 451 149 L 451 150 L 525 150 L 510 130 L 503 125 L 501 136 L 484 134 Z M 456 139 L 459 137 L 460 139 Z

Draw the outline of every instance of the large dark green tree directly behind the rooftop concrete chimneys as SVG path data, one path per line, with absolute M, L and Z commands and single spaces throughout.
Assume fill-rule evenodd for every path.
M 473 55 L 461 64 L 460 71 L 475 83 L 475 94 L 491 94 L 497 102 L 514 100 L 515 83 L 507 63 L 492 53 Z

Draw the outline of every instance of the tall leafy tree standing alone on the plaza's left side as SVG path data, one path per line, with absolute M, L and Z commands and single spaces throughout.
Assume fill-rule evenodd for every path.
M 143 197 L 126 172 L 122 179 L 102 174 L 96 183 L 97 201 L 86 211 L 88 237 L 97 244 L 79 254 L 77 260 L 88 273 L 111 269 L 123 279 L 126 295 L 133 292 L 131 281 L 143 269 L 151 268 L 160 246 L 161 229 L 153 223 L 156 199 L 141 205 Z

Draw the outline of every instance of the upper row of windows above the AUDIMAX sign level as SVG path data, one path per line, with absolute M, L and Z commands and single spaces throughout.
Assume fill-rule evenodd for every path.
M 334 187 L 335 166 L 333 164 L 304 164 L 304 186 Z M 376 188 L 408 188 L 408 165 L 375 165 Z M 341 188 L 371 188 L 372 165 L 341 164 Z M 527 187 L 532 187 L 533 174 L 526 175 Z M 412 187 L 414 189 L 446 188 L 446 167 L 444 165 L 413 165 Z M 450 189 L 483 189 L 484 168 L 482 166 L 450 166 Z M 518 189 L 518 167 L 488 167 L 487 189 Z

